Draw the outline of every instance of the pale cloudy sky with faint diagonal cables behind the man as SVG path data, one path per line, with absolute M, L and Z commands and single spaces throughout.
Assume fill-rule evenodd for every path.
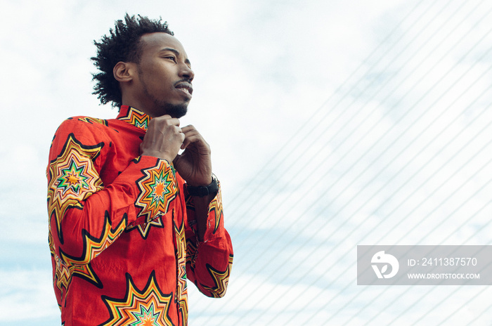
M 196 77 L 235 262 L 190 325 L 490 325 L 490 287 L 358 286 L 358 244 L 491 244 L 486 0 L 1 0 L 0 325 L 58 325 L 46 165 L 60 122 L 111 118 L 93 39 L 162 16 Z

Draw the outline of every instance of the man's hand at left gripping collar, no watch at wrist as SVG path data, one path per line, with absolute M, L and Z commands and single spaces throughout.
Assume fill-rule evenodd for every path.
M 181 148 L 185 135 L 179 127 L 179 119 L 170 115 L 150 119 L 147 133 L 140 144 L 141 155 L 148 155 L 173 162 Z

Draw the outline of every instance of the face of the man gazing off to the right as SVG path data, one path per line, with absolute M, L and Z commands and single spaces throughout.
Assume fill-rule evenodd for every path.
M 167 33 L 141 37 L 141 59 L 135 79 L 136 97 L 151 117 L 186 115 L 195 74 L 181 43 Z

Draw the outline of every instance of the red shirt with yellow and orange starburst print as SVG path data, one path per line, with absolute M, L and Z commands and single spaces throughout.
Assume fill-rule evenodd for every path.
M 193 197 L 164 159 L 140 156 L 150 117 L 72 117 L 46 171 L 53 287 L 62 324 L 186 325 L 188 278 L 224 296 L 233 260 L 221 192 L 203 241 Z

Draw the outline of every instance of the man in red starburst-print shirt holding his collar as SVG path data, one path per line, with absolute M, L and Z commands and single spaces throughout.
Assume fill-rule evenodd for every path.
M 179 124 L 190 60 L 166 22 L 141 16 L 95 44 L 94 93 L 119 115 L 67 119 L 47 169 L 62 324 L 186 325 L 186 279 L 224 296 L 233 259 L 209 145 Z

